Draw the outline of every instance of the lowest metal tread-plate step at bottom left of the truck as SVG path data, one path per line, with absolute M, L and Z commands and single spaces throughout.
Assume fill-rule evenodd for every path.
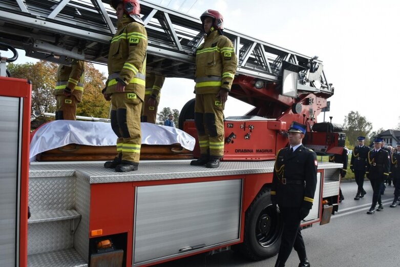
M 88 267 L 75 249 L 57 250 L 28 255 L 28 267 Z

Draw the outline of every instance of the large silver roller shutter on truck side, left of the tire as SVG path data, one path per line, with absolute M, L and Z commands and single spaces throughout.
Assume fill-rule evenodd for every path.
M 138 187 L 134 265 L 240 238 L 242 179 Z

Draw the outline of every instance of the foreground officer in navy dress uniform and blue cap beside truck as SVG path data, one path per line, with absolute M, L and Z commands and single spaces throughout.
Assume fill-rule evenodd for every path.
M 282 243 L 275 267 L 285 266 L 292 248 L 308 267 L 300 223 L 308 215 L 317 186 L 317 155 L 302 145 L 306 126 L 293 121 L 288 130 L 289 147 L 281 149 L 275 161 L 271 202 L 277 206 L 283 223 Z

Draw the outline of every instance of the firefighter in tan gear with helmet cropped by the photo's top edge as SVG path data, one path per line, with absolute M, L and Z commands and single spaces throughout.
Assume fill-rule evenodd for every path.
M 118 136 L 117 156 L 104 163 L 117 172 L 135 171 L 139 165 L 140 112 L 144 100 L 147 33 L 139 17 L 137 0 L 111 1 L 117 32 L 111 39 L 109 77 L 103 95 L 111 100 L 111 127 Z

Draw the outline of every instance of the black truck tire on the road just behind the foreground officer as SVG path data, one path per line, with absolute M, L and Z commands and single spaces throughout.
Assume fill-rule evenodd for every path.
M 269 190 L 264 189 L 246 211 L 244 241 L 234 249 L 252 260 L 275 256 L 281 245 L 282 225 Z

